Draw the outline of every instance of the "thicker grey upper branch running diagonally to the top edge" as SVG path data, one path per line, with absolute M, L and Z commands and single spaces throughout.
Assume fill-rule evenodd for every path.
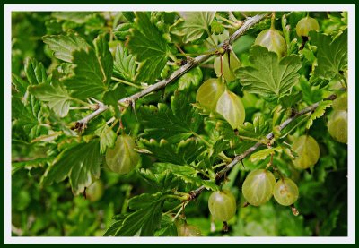
M 259 21 L 262 21 L 266 16 L 267 16 L 267 14 L 258 14 L 258 15 L 248 18 L 246 21 L 244 21 L 241 28 L 236 30 L 230 38 L 224 40 L 221 44 L 219 44 L 218 48 L 223 47 L 223 45 L 226 45 L 226 44 L 232 44 L 233 41 L 240 38 L 247 30 L 249 30 L 251 27 L 253 27 L 255 24 L 257 24 Z M 181 66 L 180 69 L 178 69 L 174 73 L 172 73 L 169 78 L 159 81 L 159 82 L 149 86 L 148 88 L 137 92 L 136 94 L 134 94 L 132 96 L 119 99 L 118 104 L 128 106 L 129 104 L 134 103 L 137 99 L 143 98 L 144 96 L 152 93 L 153 91 L 160 90 L 160 89 L 166 87 L 167 84 L 169 84 L 173 81 L 176 81 L 177 79 L 180 78 L 181 75 L 188 73 L 188 71 L 190 69 L 205 62 L 208 58 L 210 58 L 214 54 L 215 54 L 215 49 L 211 49 L 209 51 L 209 54 L 207 54 L 207 55 L 202 55 L 202 56 L 197 56 L 195 58 L 191 58 L 190 60 L 188 60 L 187 64 L 184 64 L 183 66 Z M 103 105 L 100 103 L 99 108 L 95 112 L 93 112 L 92 114 L 87 115 L 83 119 L 75 122 L 76 126 L 85 127 L 86 124 L 88 124 L 88 122 L 90 122 L 97 115 L 101 115 L 101 113 L 106 111 L 108 108 L 109 107 L 107 107 L 106 105 Z

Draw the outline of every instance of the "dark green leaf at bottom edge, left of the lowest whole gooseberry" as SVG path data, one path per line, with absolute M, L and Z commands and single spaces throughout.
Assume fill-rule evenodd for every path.
M 164 201 L 165 197 L 161 192 L 155 194 L 143 193 L 133 197 L 128 202 L 128 205 L 131 210 L 136 211 L 127 214 L 127 217 L 123 220 L 115 235 L 154 235 L 155 230 L 161 223 Z

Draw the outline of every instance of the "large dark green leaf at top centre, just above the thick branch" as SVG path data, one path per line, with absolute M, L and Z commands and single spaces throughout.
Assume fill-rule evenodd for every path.
M 136 81 L 153 83 L 167 63 L 169 47 L 161 32 L 150 21 L 148 13 L 136 13 L 136 29 L 129 38 L 128 47 L 141 64 Z

